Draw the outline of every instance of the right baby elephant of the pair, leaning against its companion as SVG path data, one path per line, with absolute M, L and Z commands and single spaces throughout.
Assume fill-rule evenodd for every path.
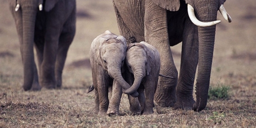
M 160 71 L 159 52 L 146 42 L 131 43 L 127 47 L 125 61 L 125 80 L 132 86 L 123 92 L 130 94 L 138 91 L 141 114 L 153 114 Z

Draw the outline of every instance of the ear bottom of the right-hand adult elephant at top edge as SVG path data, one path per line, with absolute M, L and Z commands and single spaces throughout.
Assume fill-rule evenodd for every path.
M 152 0 L 152 2 L 169 11 L 178 11 L 180 8 L 180 0 Z

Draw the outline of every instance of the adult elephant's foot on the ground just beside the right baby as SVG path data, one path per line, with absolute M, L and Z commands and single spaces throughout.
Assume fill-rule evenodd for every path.
M 161 107 L 173 107 L 176 102 L 175 88 L 156 88 L 154 100 Z

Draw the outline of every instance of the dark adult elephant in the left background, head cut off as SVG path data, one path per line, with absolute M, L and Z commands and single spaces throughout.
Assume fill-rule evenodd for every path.
M 40 90 L 41 86 L 61 87 L 67 51 L 75 36 L 76 1 L 9 0 L 9 8 L 20 42 L 24 90 Z M 39 82 L 34 46 L 38 58 Z

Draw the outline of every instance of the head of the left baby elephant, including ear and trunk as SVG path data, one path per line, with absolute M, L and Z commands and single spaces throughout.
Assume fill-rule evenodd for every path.
M 114 78 L 119 85 L 127 89 L 130 85 L 124 80 L 121 73 L 121 68 L 124 65 L 127 42 L 123 36 L 117 36 L 110 31 L 105 31 L 92 41 L 92 43 L 100 42 L 97 45 L 92 45 L 91 50 L 96 51 L 95 61 L 109 75 Z M 96 50 L 99 48 L 98 50 Z M 91 53 L 91 51 L 90 51 Z M 90 55 L 91 56 L 91 55 Z M 131 96 L 137 97 L 137 92 L 132 93 Z

